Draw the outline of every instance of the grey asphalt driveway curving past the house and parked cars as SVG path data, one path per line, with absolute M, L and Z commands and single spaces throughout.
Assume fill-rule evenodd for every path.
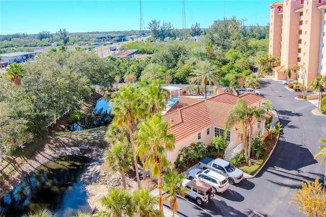
M 274 153 L 253 179 L 230 185 L 228 191 L 215 196 L 212 203 L 197 207 L 192 199 L 180 199 L 179 216 L 248 216 L 253 211 L 264 216 L 305 216 L 291 201 L 302 181 L 322 180 L 325 165 L 313 155 L 319 152 L 318 139 L 326 137 L 326 117 L 315 116 L 316 108 L 306 100 L 295 100 L 295 92 L 274 80 L 264 80 L 262 95 L 270 99 L 283 124 Z M 166 202 L 168 205 L 168 202 Z

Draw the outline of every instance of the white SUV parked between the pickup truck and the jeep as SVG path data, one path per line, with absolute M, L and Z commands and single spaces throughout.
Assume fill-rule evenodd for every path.
M 212 170 L 192 169 L 189 171 L 190 180 L 197 178 L 213 187 L 213 193 L 223 193 L 229 188 L 228 179 L 220 173 Z

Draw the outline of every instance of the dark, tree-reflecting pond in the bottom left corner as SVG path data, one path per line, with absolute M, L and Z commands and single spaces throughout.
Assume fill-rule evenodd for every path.
M 47 161 L 24 178 L 1 200 L 1 215 L 22 216 L 49 209 L 57 216 L 73 216 L 78 210 L 91 212 L 81 172 L 91 160 L 65 156 Z

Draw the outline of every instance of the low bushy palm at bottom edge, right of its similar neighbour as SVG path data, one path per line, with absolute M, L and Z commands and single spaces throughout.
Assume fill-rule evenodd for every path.
M 158 205 L 158 198 L 151 194 L 151 191 L 144 187 L 132 193 L 134 211 L 140 217 L 157 216 L 159 214 L 155 207 Z

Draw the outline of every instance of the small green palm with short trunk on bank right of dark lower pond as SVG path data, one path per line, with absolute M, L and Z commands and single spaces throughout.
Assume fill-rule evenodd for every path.
M 106 162 L 108 167 L 114 172 L 120 172 L 122 176 L 123 188 L 126 189 L 125 173 L 130 170 L 132 154 L 128 142 L 117 143 L 106 151 Z

